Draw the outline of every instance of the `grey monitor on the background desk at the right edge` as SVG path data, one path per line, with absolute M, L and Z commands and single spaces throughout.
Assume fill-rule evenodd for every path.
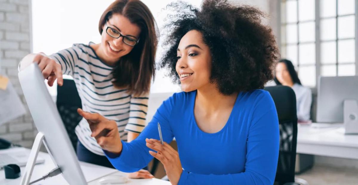
M 317 122 L 357 122 L 358 111 L 355 110 L 358 107 L 357 104 L 358 76 L 319 78 Z M 358 128 L 358 125 L 356 125 L 356 128 Z

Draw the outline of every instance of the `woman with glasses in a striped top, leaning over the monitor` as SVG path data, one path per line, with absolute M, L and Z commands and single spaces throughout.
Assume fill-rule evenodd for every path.
M 102 14 L 101 43 L 74 44 L 46 56 L 30 54 L 20 62 L 22 70 L 32 62 L 39 65 L 48 84 L 63 84 L 62 74 L 76 82 L 82 108 L 114 120 L 117 134 L 131 142 L 145 126 L 148 94 L 154 77 L 157 37 L 155 21 L 140 0 L 116 0 Z M 112 167 L 86 119 L 76 127 L 77 156 L 81 161 Z M 140 170 L 132 178 L 151 178 Z

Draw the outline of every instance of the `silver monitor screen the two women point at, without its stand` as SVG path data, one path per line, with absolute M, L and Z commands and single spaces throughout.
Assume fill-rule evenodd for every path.
M 87 184 L 38 65 L 33 63 L 19 72 L 19 80 L 36 128 L 44 134 L 45 147 L 64 179 L 69 184 Z

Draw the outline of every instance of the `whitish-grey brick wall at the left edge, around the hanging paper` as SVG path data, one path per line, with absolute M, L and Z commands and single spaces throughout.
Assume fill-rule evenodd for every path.
M 0 126 L 0 138 L 30 148 L 37 130 L 18 79 L 18 64 L 30 53 L 29 0 L 0 0 L 0 66 L 26 107 L 26 115 Z M 1 106 L 1 105 L 0 105 Z

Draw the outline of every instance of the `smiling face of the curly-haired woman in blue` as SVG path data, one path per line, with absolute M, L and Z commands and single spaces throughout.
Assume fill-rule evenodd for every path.
M 203 35 L 197 30 L 187 32 L 180 40 L 176 62 L 176 72 L 184 92 L 194 91 L 205 86 L 212 86 L 211 52 L 203 42 Z

